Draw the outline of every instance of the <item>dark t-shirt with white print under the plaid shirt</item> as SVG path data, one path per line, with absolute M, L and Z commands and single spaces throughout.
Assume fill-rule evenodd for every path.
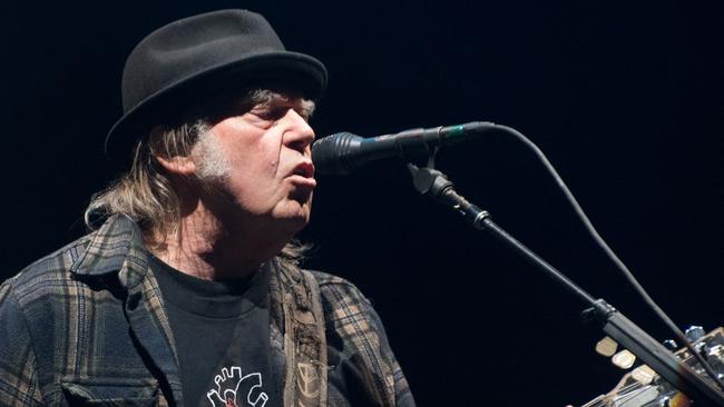
M 149 256 L 164 296 L 186 406 L 281 405 L 270 363 L 270 268 L 233 281 L 203 280 Z

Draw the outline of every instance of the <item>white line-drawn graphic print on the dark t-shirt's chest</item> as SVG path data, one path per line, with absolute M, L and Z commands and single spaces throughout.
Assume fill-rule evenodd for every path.
M 242 368 L 232 366 L 231 374 L 227 368 L 223 368 L 214 383 L 216 388 L 206 393 L 214 407 L 264 407 L 268 400 L 266 393 L 262 391 L 260 373 L 242 376 Z

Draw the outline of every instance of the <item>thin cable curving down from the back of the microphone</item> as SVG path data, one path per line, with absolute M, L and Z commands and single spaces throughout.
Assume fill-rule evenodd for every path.
M 488 125 L 488 123 L 486 123 Z M 584 212 L 584 209 L 580 207 L 574 195 L 570 192 L 570 189 L 568 189 L 568 186 L 566 186 L 566 182 L 564 182 L 562 178 L 558 175 L 558 171 L 554 168 L 554 166 L 550 163 L 546 155 L 536 146 L 532 141 L 530 141 L 526 136 L 524 136 L 520 131 L 508 127 L 508 126 L 502 126 L 502 125 L 495 125 L 495 123 L 489 123 L 488 126 L 492 126 L 497 130 L 501 130 L 506 133 L 512 135 L 517 137 L 520 141 L 522 141 L 526 146 L 528 146 L 538 157 L 538 159 L 544 163 L 548 172 L 554 177 L 556 180 L 556 183 L 558 187 L 562 190 L 564 195 L 566 196 L 566 199 L 568 199 L 568 202 L 573 206 L 574 211 L 580 220 L 584 222 L 584 226 L 586 227 L 586 230 L 590 234 L 590 236 L 594 238 L 594 240 L 600 246 L 601 249 L 604 249 L 604 252 L 608 256 L 608 258 L 616 265 L 616 267 L 624 274 L 624 277 L 630 282 L 632 286 L 636 289 L 636 291 L 644 298 L 644 301 L 646 305 L 648 305 L 656 316 L 661 318 L 666 327 L 676 336 L 676 338 L 684 344 L 686 349 L 694 355 L 696 360 L 704 367 L 704 370 L 708 374 L 708 376 L 716 383 L 716 385 L 724 390 L 724 381 L 716 375 L 714 369 L 710 366 L 708 363 L 699 355 L 696 349 L 694 349 L 694 346 L 689 343 L 688 338 L 682 332 L 681 329 L 674 324 L 674 321 L 658 307 L 658 305 L 652 299 L 652 297 L 646 292 L 644 287 L 636 280 L 636 277 L 630 272 L 628 267 L 616 256 L 614 250 L 606 244 L 606 241 L 600 237 L 591 221 L 588 219 L 588 216 Z

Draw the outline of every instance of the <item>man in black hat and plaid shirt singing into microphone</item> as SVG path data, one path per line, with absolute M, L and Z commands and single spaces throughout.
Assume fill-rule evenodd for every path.
M 325 85 L 253 12 L 146 37 L 95 231 L 0 288 L 0 405 L 414 405 L 369 301 L 297 267 Z

